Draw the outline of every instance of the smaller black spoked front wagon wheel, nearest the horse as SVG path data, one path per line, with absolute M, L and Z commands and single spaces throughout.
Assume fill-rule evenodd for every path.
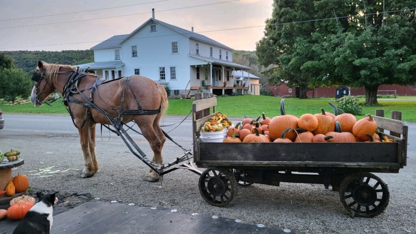
M 237 180 L 230 170 L 210 167 L 199 177 L 199 192 L 209 204 L 223 207 L 237 194 Z

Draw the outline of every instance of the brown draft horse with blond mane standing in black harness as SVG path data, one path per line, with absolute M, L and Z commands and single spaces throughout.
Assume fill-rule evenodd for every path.
M 74 67 L 70 65 L 48 64 L 41 61 L 38 61 L 37 67 L 37 73 L 40 74 L 39 80 L 35 81 L 32 95 L 30 96 L 30 100 L 35 107 L 42 105 L 42 101 L 55 90 L 63 93 L 64 86 L 75 71 Z M 92 100 L 96 106 L 102 108 L 102 110 L 113 117 L 119 115 L 117 110 L 120 110 L 121 103 L 123 103 L 124 110 L 138 109 L 134 97 L 137 98 L 143 110 L 160 108 L 160 112 L 154 115 L 123 115 L 122 122 L 128 123 L 132 120 L 136 122 L 154 152 L 153 161 L 156 164 L 162 164 L 163 157 L 161 152 L 166 137 L 159 126 L 159 120 L 166 113 L 168 107 L 166 90 L 163 85 L 139 75 L 130 76 L 130 89 L 124 87 L 124 79 L 125 77 L 97 85 L 97 90 L 93 93 Z M 96 81 L 96 75 L 88 74 L 82 77 L 77 87 L 82 91 L 92 87 Z M 90 97 L 90 90 L 85 90 L 82 94 L 85 97 Z M 121 102 L 123 95 L 124 101 Z M 78 93 L 74 94 L 73 97 L 85 103 L 85 100 Z M 82 178 L 92 177 L 98 170 L 98 160 L 95 155 L 95 124 L 111 123 L 105 115 L 96 109 L 87 109 L 84 105 L 74 102 L 69 102 L 67 105 L 69 105 L 68 108 L 71 110 L 74 124 L 78 128 L 81 148 L 84 154 L 85 167 L 82 172 Z M 85 119 L 85 117 L 87 118 Z M 158 174 L 152 169 L 150 171 L 148 180 L 151 182 L 158 181 Z

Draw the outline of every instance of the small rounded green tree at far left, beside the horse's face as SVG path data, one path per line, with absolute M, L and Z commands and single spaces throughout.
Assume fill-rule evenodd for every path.
M 32 88 L 29 74 L 22 69 L 4 69 L 0 71 L 0 98 L 15 102 L 18 96 L 27 99 Z

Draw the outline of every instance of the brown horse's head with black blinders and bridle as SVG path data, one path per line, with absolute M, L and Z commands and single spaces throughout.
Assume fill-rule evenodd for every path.
M 67 68 L 66 70 L 68 71 L 72 71 L 72 67 L 69 65 L 58 65 L 57 63 L 49 64 L 41 61 L 37 62 L 37 70 L 32 76 L 32 80 L 35 84 L 33 85 L 32 95 L 30 96 L 30 100 L 35 107 L 40 107 L 42 102 L 57 89 L 56 83 L 59 73 L 68 72 L 59 72 L 61 67 Z

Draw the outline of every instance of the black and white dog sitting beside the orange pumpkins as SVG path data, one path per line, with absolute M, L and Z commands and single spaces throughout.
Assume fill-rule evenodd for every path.
M 49 234 L 52 228 L 53 205 L 58 202 L 55 191 L 37 192 L 39 201 L 17 225 L 13 234 Z

